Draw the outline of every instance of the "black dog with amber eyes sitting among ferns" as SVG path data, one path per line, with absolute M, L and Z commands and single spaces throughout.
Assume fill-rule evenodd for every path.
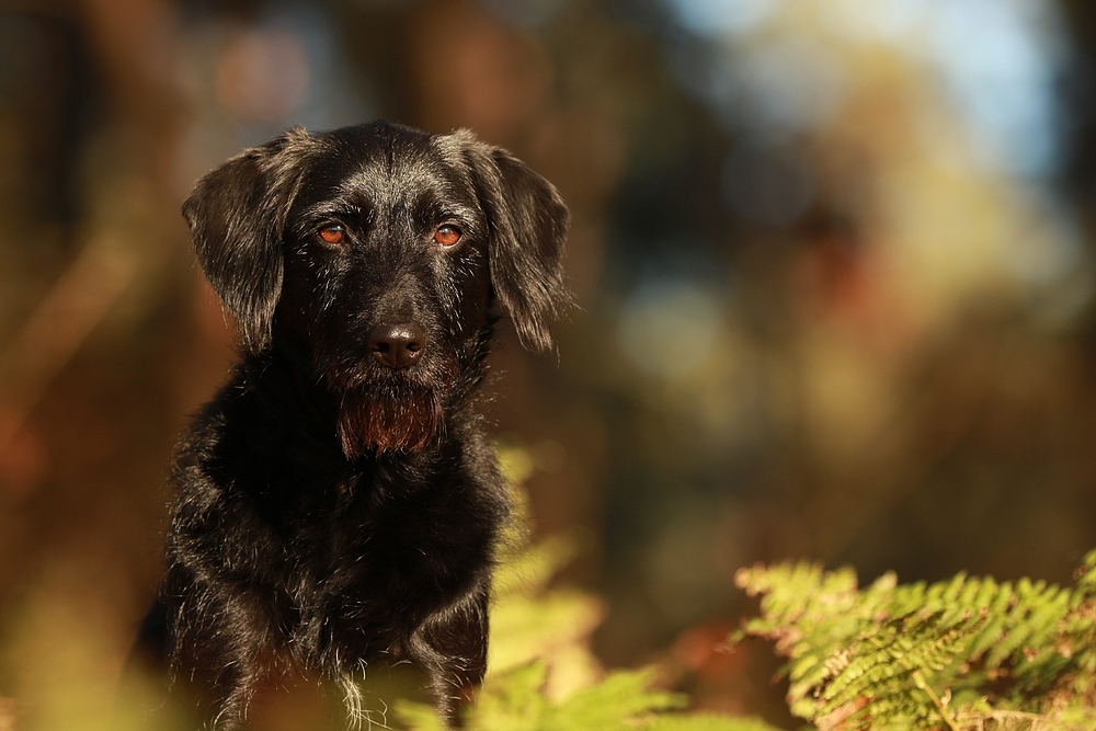
M 183 213 L 242 361 L 176 457 L 139 653 L 213 728 L 287 669 L 361 712 L 375 661 L 423 667 L 456 722 L 507 514 L 476 393 L 499 306 L 551 347 L 566 206 L 467 132 L 377 122 L 249 149 Z

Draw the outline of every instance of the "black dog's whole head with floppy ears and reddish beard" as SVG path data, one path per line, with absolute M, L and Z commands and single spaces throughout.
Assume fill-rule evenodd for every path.
M 559 194 L 465 130 L 293 130 L 203 178 L 183 213 L 241 349 L 313 368 L 351 458 L 433 441 L 479 378 L 495 302 L 534 351 L 568 302 Z

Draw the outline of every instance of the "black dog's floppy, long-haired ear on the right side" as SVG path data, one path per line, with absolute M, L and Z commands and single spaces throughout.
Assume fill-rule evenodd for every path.
M 463 147 L 489 218 L 495 296 L 522 344 L 549 351 L 549 324 L 571 304 L 562 261 L 571 214 L 551 183 L 506 150 L 484 145 L 465 129 L 452 137 Z

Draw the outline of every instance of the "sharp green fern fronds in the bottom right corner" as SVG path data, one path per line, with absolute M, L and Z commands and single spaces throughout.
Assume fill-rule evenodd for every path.
M 775 641 L 791 711 L 821 728 L 961 731 L 994 713 L 1048 730 L 1087 713 L 1096 728 L 1096 551 L 1072 590 L 964 573 L 859 590 L 852 570 L 807 563 L 737 582 L 762 596 L 761 617 L 732 639 Z

